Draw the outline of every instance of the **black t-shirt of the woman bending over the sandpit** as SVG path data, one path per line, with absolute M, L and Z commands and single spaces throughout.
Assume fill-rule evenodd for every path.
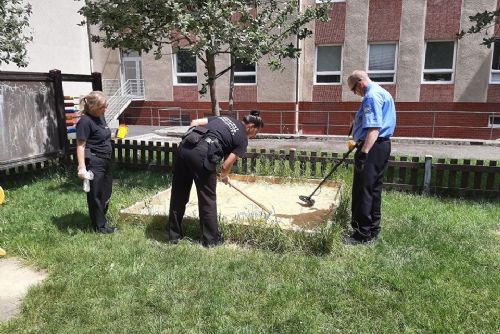
M 210 130 L 210 136 L 215 136 L 221 143 L 225 157 L 229 153 L 243 157 L 246 153 L 248 137 L 242 121 L 226 116 L 211 116 L 208 117 L 206 128 Z

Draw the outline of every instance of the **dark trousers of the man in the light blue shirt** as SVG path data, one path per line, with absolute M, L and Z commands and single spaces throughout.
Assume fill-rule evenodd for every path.
M 359 159 L 359 150 L 354 159 Z M 391 142 L 377 141 L 368 153 L 364 169 L 354 168 L 352 185 L 352 220 L 354 238 L 371 240 L 380 233 L 382 185 L 391 154 Z

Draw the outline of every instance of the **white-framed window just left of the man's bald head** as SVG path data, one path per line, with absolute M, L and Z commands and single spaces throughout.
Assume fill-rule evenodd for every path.
M 316 48 L 316 83 L 340 83 L 342 70 L 342 47 L 338 45 Z

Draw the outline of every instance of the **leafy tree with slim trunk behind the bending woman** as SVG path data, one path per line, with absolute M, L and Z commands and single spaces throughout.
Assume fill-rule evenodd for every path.
M 269 56 L 273 70 L 300 55 L 294 44 L 312 34 L 306 25 L 328 20 L 328 2 L 299 10 L 298 0 L 100 0 L 85 1 L 80 13 L 96 25 L 91 37 L 104 47 L 154 52 L 186 49 L 205 65 L 212 111 L 218 114 L 215 81 L 231 69 L 217 69 L 215 59 L 230 54 L 246 63 Z

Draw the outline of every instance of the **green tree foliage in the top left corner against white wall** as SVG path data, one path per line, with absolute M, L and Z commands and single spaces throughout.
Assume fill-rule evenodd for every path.
M 27 31 L 31 5 L 21 0 L 0 0 L 0 65 L 13 62 L 28 66 L 26 44 L 33 37 Z

